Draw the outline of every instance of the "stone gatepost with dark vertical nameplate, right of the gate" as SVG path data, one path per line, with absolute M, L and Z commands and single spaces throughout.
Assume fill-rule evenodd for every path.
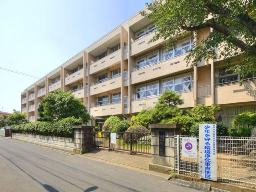
M 175 166 L 174 136 L 180 135 L 182 124 L 149 124 L 151 128 L 151 163 L 149 170 L 168 173 Z

